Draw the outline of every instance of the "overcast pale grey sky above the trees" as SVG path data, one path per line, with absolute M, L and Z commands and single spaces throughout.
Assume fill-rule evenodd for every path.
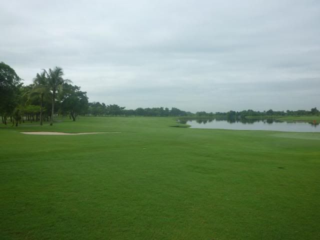
M 60 66 L 89 101 L 320 108 L 319 0 L 0 0 L 0 61 Z

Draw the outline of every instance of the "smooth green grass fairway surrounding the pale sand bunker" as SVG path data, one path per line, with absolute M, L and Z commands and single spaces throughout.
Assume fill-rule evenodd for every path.
M 320 239 L 319 133 L 37 124 L 0 127 L 0 239 Z

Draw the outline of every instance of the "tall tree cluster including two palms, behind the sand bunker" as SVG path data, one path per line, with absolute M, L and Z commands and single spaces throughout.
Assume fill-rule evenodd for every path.
M 0 115 L 2 123 L 12 125 L 29 121 L 53 124 L 55 115 L 76 116 L 86 112 L 88 97 L 79 86 L 63 78 L 61 67 L 42 69 L 33 83 L 23 85 L 22 79 L 4 62 L 0 62 Z

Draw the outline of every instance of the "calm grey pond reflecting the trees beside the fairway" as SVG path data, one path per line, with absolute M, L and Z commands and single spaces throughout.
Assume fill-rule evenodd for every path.
M 217 128 L 234 130 L 270 130 L 270 131 L 299 131 L 320 132 L 318 123 L 301 121 L 278 121 L 273 119 L 190 119 L 186 120 L 191 128 Z

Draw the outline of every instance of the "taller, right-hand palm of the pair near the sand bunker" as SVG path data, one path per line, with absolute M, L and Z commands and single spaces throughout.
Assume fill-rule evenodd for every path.
M 46 72 L 47 75 L 47 86 L 49 87 L 51 94 L 52 94 L 52 111 L 51 111 L 51 119 L 50 119 L 50 125 L 53 124 L 53 114 L 54 114 L 54 100 L 57 91 L 62 87 L 63 83 L 71 82 L 68 79 L 63 79 L 63 70 L 61 67 L 54 67 L 53 70 L 49 68 L 49 71 Z

